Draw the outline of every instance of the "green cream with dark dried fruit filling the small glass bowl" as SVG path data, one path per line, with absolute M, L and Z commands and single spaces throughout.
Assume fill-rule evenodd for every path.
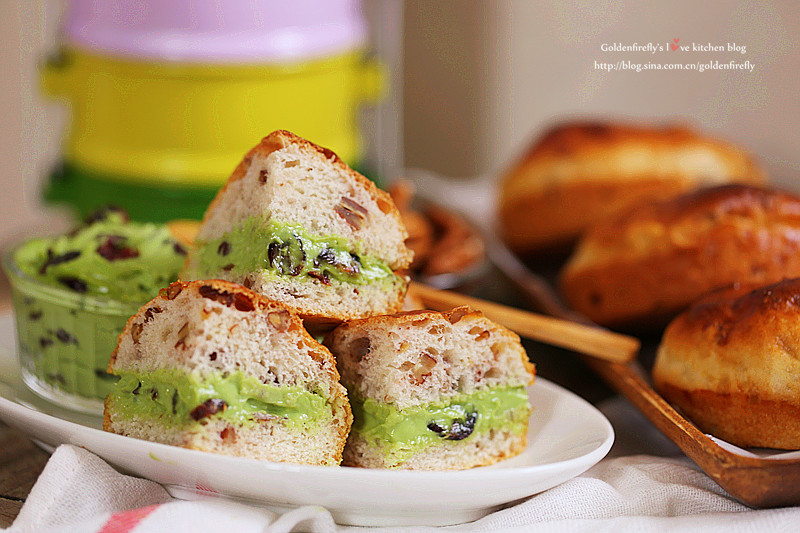
M 21 245 L 7 272 L 26 382 L 48 397 L 54 389 L 105 398 L 116 380 L 105 370 L 117 336 L 177 279 L 185 255 L 166 226 L 110 209 L 69 234 Z

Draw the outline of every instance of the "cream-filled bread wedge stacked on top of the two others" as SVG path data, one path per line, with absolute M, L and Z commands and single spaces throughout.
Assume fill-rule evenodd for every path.
M 241 283 L 310 323 L 398 311 L 412 254 L 391 197 L 287 131 L 250 150 L 206 211 L 184 279 Z

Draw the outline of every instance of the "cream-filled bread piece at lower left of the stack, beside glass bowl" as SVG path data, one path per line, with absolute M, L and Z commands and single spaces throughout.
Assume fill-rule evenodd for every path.
M 106 431 L 213 453 L 336 465 L 352 416 L 335 361 L 283 305 L 175 282 L 131 317 Z

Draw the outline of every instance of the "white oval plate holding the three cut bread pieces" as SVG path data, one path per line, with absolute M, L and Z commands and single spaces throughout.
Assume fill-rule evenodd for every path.
M 537 378 L 528 447 L 498 464 L 453 472 L 302 466 L 227 457 L 106 433 L 28 391 L 19 377 L 12 319 L 0 317 L 0 419 L 52 450 L 82 446 L 176 498 L 226 497 L 278 511 L 321 505 L 351 525 L 445 525 L 475 520 L 567 481 L 614 441 L 608 420 L 575 394 Z

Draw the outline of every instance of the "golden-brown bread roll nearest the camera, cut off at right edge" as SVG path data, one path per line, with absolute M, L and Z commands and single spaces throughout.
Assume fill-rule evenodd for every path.
M 656 389 L 702 431 L 800 449 L 800 279 L 713 293 L 666 329 Z

